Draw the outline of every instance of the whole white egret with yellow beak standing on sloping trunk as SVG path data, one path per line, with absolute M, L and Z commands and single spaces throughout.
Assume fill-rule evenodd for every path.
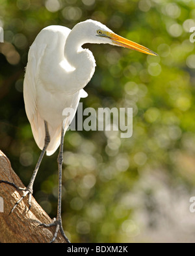
M 72 121 L 80 98 L 87 95 L 83 88 L 94 74 L 96 61 L 90 50 L 82 48 L 85 43 L 112 44 L 157 55 L 140 44 L 116 35 L 108 27 L 94 20 L 80 22 L 72 30 L 60 25 L 45 27 L 32 43 L 25 71 L 23 94 L 34 140 L 42 153 L 29 185 L 22 189 L 23 197 L 16 202 L 14 208 L 27 195 L 29 195 L 29 209 L 31 208 L 32 185 L 42 157 L 45 152 L 47 155 L 52 155 L 60 146 L 57 219 L 49 225 L 41 224 L 45 227 L 56 225 L 51 242 L 57 237 L 59 229 L 69 242 L 62 229 L 61 195 L 63 141 L 70 122 L 68 123 L 67 117 L 62 116 L 62 112 L 65 108 L 73 108 L 74 113 L 69 117 Z

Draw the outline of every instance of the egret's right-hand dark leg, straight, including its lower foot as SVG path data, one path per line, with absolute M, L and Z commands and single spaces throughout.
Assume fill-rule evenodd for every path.
M 62 132 L 61 132 L 61 140 L 60 140 L 60 150 L 59 150 L 59 156 L 58 156 L 58 167 L 59 167 L 59 198 L 58 198 L 58 209 L 57 209 L 57 219 L 53 221 L 51 224 L 40 224 L 39 226 L 44 227 L 52 227 L 56 226 L 55 233 L 53 235 L 53 239 L 51 240 L 51 243 L 55 241 L 57 238 L 57 234 L 60 230 L 62 236 L 64 236 L 66 242 L 70 243 L 68 240 L 66 234 L 64 233 L 63 227 L 62 227 L 62 217 L 61 217 L 61 205 L 62 205 L 62 163 L 63 163 L 63 146 L 64 146 L 64 127 L 62 125 Z

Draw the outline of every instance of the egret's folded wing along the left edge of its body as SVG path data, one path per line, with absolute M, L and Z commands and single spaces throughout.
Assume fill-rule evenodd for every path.
M 23 97 L 25 102 L 25 110 L 27 118 L 31 123 L 32 133 L 36 144 L 40 149 L 44 147 L 45 128 L 44 120 L 40 117 L 37 111 L 36 104 L 36 86 L 38 84 L 38 72 L 46 44 L 42 45 L 42 49 L 35 50 L 36 45 L 32 45 L 29 50 L 28 63 L 25 71 L 25 78 L 23 83 Z M 39 57 L 36 57 L 37 54 Z

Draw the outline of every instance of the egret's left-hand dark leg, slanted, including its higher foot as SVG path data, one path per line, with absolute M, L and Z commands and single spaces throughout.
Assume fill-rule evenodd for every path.
M 14 211 L 14 209 L 16 208 L 16 206 L 19 204 L 19 202 L 21 202 L 21 200 L 24 199 L 24 197 L 26 197 L 27 195 L 29 195 L 29 200 L 28 200 L 28 203 L 29 203 L 29 210 L 31 209 L 31 195 L 32 195 L 32 186 L 34 184 L 34 180 L 36 178 L 36 174 L 38 172 L 38 168 L 40 167 L 40 163 L 44 157 L 44 153 L 45 151 L 47 150 L 47 146 L 50 142 L 50 136 L 49 136 L 49 131 L 48 131 L 48 126 L 47 126 L 47 122 L 44 121 L 44 124 L 45 124 L 45 144 L 44 144 L 44 148 L 40 154 L 40 157 L 38 159 L 38 162 L 36 164 L 36 167 L 34 169 L 34 172 L 32 173 L 32 177 L 31 177 L 31 180 L 29 182 L 29 185 L 27 186 L 27 188 L 23 189 L 21 187 L 18 187 L 16 186 L 14 183 L 11 183 L 11 182 L 6 182 L 5 180 L 0 180 L 0 184 L 1 183 L 5 183 L 5 184 L 9 184 L 9 185 L 12 185 L 13 187 L 15 187 L 16 189 L 18 189 L 19 191 L 24 191 L 23 193 L 23 196 L 21 197 L 21 199 L 18 200 L 18 202 L 16 202 L 16 204 L 14 205 L 14 207 L 12 208 L 10 214 Z

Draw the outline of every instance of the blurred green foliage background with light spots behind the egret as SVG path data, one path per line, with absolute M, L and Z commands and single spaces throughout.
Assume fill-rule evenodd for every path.
M 159 56 L 85 45 L 97 67 L 83 108 L 132 107 L 133 136 L 66 133 L 64 230 L 72 242 L 193 240 L 194 232 L 179 225 L 188 227 L 192 218 L 188 202 L 195 185 L 195 44 L 189 40 L 195 2 L 0 0 L 0 5 L 5 40 L 0 43 L 0 149 L 23 183 L 29 183 L 40 154 L 23 103 L 29 46 L 47 25 L 72 28 L 88 18 L 98 20 Z M 56 152 L 44 157 L 34 183 L 34 197 L 51 217 L 57 212 L 57 184 Z

